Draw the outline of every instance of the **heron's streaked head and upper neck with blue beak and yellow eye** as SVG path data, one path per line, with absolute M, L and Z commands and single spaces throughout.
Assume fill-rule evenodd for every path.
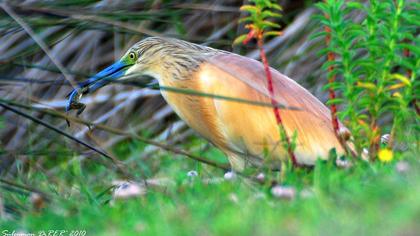
M 79 84 L 83 93 L 93 92 L 110 82 L 141 78 L 185 79 L 217 50 L 177 39 L 150 37 L 133 45 L 118 61 Z M 134 77 L 134 78 L 133 78 Z

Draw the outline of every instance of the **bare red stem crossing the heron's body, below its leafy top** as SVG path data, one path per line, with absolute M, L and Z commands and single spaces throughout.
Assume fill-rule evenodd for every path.
M 261 57 L 261 60 L 264 64 L 264 71 L 265 71 L 265 74 L 266 74 L 266 77 L 267 77 L 267 86 L 268 86 L 268 91 L 270 93 L 271 104 L 273 105 L 274 116 L 276 117 L 277 125 L 279 125 L 281 127 L 281 129 L 283 129 L 283 131 L 284 131 L 285 140 L 286 140 L 286 143 L 287 143 L 287 152 L 289 153 L 290 159 L 292 160 L 292 164 L 293 164 L 294 167 L 298 167 L 299 164 L 297 163 L 295 153 L 292 150 L 292 145 L 290 143 L 290 139 L 287 136 L 287 132 L 286 132 L 286 129 L 284 127 L 283 120 L 281 119 L 280 110 L 278 108 L 277 101 L 274 99 L 273 79 L 271 77 L 270 66 L 268 64 L 268 60 L 267 60 L 267 57 L 266 57 L 266 54 L 265 54 L 265 51 L 264 51 L 264 47 L 263 47 L 264 43 L 263 43 L 262 37 L 257 37 L 257 43 L 258 43 L 258 48 L 260 50 L 260 57 Z

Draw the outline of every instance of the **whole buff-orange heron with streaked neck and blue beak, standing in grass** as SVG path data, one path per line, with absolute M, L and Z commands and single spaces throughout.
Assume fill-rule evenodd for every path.
M 317 158 L 328 158 L 333 148 L 343 154 L 329 109 L 292 79 L 272 68 L 271 73 L 273 99 L 284 105 L 280 113 L 286 133 L 297 133 L 294 150 L 297 162 L 313 165 Z M 271 101 L 259 61 L 182 40 L 146 38 L 132 46 L 119 61 L 73 90 L 68 109 L 84 107 L 78 102 L 82 94 L 130 74 L 139 75 L 138 79 L 141 75 L 151 76 L 161 87 L 219 96 L 161 90 L 181 119 L 226 154 L 233 170 L 242 171 L 248 165 L 277 165 L 288 158 L 280 143 L 273 108 L 259 105 Z

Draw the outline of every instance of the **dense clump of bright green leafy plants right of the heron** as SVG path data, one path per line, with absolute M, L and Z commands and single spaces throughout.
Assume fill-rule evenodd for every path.
M 419 4 L 326 0 L 317 7 L 325 30 L 314 38 L 324 37 L 327 44 L 320 53 L 328 55 L 323 68 L 334 127 L 338 115 L 350 128 L 358 154 L 366 148 L 373 160 L 381 135 L 390 133 L 392 149 L 393 140 L 411 130 L 407 124 L 418 123 Z

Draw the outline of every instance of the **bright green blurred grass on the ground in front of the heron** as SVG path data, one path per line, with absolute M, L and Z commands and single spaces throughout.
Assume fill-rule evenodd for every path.
M 144 148 L 130 145 L 117 152 L 129 156 Z M 93 161 L 75 161 L 61 164 L 54 176 L 28 171 L 18 181 L 52 196 L 40 212 L 32 210 L 29 196 L 2 190 L 15 211 L 1 220 L 0 228 L 68 230 L 67 235 L 71 230 L 86 230 L 87 235 L 414 235 L 420 230 L 420 165 L 412 158 L 416 154 L 406 153 L 410 168 L 403 173 L 396 170 L 398 161 L 357 163 L 347 170 L 319 162 L 313 171 L 288 171 L 284 185 L 296 187 L 293 200 L 276 198 L 269 186 L 243 178 L 206 183 L 222 178 L 223 172 L 169 154 L 134 160 L 132 165 L 142 165 L 149 175 L 158 161 L 154 178 L 170 178 L 174 184 L 149 188 L 142 197 L 112 200 L 107 189 L 119 177 Z M 221 158 L 214 148 L 204 155 Z M 194 179 L 187 176 L 192 169 L 199 172 Z M 302 190 L 312 194 L 301 196 Z

